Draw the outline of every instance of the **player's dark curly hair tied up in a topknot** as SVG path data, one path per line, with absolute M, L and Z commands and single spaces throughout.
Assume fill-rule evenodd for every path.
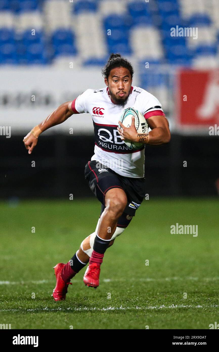
M 101 70 L 102 75 L 104 76 L 104 78 L 108 79 L 110 71 L 113 68 L 115 68 L 115 67 L 127 68 L 129 70 L 129 72 L 130 72 L 131 78 L 133 77 L 134 69 L 133 69 L 132 64 L 127 59 L 122 57 L 120 54 L 112 53 L 110 55 L 107 63 L 105 64 L 105 66 Z

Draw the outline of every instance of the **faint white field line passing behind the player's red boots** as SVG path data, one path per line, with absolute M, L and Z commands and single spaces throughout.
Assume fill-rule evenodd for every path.
M 219 277 L 165 277 L 165 278 L 160 278 L 160 279 L 154 279 L 154 278 L 119 278 L 119 279 L 103 279 L 103 282 L 133 282 L 133 281 L 142 281 L 142 282 L 150 282 L 150 281 L 157 281 L 157 282 L 162 282 L 162 281 L 183 281 L 183 280 L 191 280 L 191 281 L 198 281 L 198 280 L 204 280 L 204 281 L 216 281 L 219 280 Z M 81 282 L 82 280 L 75 280 L 72 279 L 72 283 L 78 283 Z M 54 282 L 54 280 L 30 280 L 30 281 L 0 281 L 0 285 L 25 285 L 25 284 L 45 284 L 45 283 L 51 283 Z

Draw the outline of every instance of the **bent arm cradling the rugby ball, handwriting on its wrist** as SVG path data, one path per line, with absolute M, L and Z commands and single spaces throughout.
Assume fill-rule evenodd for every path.
M 149 133 L 139 134 L 135 128 L 135 119 L 132 118 L 130 127 L 125 127 L 121 122 L 120 128 L 118 127 L 118 133 L 121 139 L 128 139 L 132 142 L 144 143 L 149 145 L 162 145 L 169 143 L 170 131 L 169 124 L 165 116 L 152 116 L 147 119 L 148 126 L 152 131 Z

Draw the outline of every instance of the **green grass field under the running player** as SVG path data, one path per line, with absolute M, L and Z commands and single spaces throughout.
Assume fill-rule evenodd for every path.
M 66 301 L 54 302 L 52 268 L 94 232 L 99 211 L 95 199 L 0 203 L 0 323 L 12 329 L 209 329 L 218 321 L 217 199 L 144 201 L 105 253 L 99 287 L 84 286 L 83 269 Z M 176 222 L 198 225 L 198 236 L 170 234 Z

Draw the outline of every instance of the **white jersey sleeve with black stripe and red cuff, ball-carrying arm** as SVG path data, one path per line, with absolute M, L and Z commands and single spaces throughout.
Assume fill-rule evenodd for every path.
M 141 110 L 146 120 L 152 116 L 165 116 L 161 103 L 154 95 L 142 94 L 141 98 L 143 98 L 141 99 Z

